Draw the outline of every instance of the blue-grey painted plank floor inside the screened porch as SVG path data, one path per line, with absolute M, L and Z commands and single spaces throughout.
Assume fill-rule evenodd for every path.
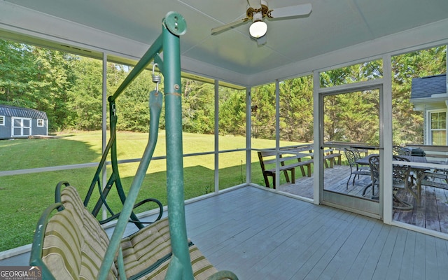
M 239 279 L 447 279 L 448 241 L 244 187 L 186 205 L 188 236 Z M 29 255 L 15 258 L 27 265 Z M 0 261 L 0 265 L 11 265 Z

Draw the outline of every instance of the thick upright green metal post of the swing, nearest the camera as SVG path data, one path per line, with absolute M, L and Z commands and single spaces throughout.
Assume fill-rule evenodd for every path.
M 168 13 L 164 20 L 163 58 L 165 86 L 165 125 L 167 141 L 167 199 L 169 234 L 173 258 L 165 279 L 193 279 L 188 251 L 183 194 L 181 55 L 179 36 L 186 22 L 178 13 Z M 181 269 L 181 271 L 179 271 Z

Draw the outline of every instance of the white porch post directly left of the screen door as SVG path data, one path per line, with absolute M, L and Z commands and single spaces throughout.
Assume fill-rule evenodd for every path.
M 319 92 L 320 88 L 319 71 L 313 71 L 313 122 L 314 122 L 314 172 L 313 172 L 313 186 L 314 186 L 314 204 L 321 204 L 322 192 L 321 184 L 323 184 L 323 169 L 321 165 L 320 158 L 320 142 L 321 142 L 321 116 L 323 111 L 321 109 L 321 94 Z M 321 180 L 322 178 L 322 180 Z

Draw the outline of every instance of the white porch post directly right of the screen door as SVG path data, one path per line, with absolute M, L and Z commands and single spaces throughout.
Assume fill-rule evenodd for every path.
M 382 102 L 381 102 L 382 97 Z M 383 92 L 380 95 L 379 109 L 379 147 L 383 148 L 382 158 L 380 150 L 380 183 L 383 185 L 383 209 L 379 215 L 383 217 L 384 223 L 392 223 L 392 66 L 391 56 L 383 57 Z M 382 103 L 382 106 L 381 106 Z M 382 110 L 381 110 L 382 109 Z M 382 133 L 381 133 L 382 131 Z M 382 139 L 381 139 L 382 138 Z M 381 180 L 382 175 L 382 180 Z M 380 193 L 381 195 L 381 193 Z M 380 197 L 381 200 L 381 197 Z

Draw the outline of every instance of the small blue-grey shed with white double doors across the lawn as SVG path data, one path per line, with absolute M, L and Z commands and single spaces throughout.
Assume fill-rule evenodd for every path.
M 0 139 L 48 135 L 47 113 L 0 104 Z

